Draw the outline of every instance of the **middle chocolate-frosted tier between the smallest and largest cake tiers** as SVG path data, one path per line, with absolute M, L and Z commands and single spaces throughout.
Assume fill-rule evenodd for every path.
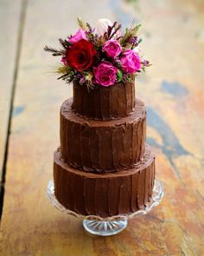
M 131 115 L 96 121 L 73 112 L 72 99 L 61 106 L 61 155 L 69 165 L 87 172 L 115 172 L 143 159 L 146 110 L 136 99 Z

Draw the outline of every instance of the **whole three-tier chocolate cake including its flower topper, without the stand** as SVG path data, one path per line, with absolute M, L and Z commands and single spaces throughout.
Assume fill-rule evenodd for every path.
M 135 97 L 135 79 L 150 63 L 138 54 L 137 30 L 99 20 L 97 33 L 80 30 L 60 39 L 57 70 L 73 82 L 73 98 L 61 106 L 61 146 L 54 153 L 54 194 L 82 215 L 130 214 L 151 200 L 155 156 L 146 138 L 146 110 Z

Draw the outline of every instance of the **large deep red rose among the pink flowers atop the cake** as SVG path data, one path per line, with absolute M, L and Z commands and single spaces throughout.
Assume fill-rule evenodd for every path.
M 93 44 L 85 39 L 81 39 L 67 49 L 67 64 L 78 71 L 88 69 L 92 67 L 92 62 L 96 54 L 97 51 L 94 49 Z

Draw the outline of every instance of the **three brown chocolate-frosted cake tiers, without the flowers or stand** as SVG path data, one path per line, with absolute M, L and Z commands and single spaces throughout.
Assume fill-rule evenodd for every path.
M 134 82 L 94 89 L 73 82 L 61 106 L 54 193 L 83 215 L 129 214 L 151 200 L 155 156 L 145 144 L 146 110 Z

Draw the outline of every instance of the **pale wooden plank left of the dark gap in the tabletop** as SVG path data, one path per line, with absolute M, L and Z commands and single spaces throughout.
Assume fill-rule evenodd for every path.
M 20 1 L 0 2 L 0 176 L 7 144 L 10 123 L 10 102 L 16 74 L 18 31 L 20 23 Z M 12 17 L 12 18 L 11 18 Z M 10 38 L 12 37 L 12 40 Z M 1 189 L 1 188 L 0 188 Z

